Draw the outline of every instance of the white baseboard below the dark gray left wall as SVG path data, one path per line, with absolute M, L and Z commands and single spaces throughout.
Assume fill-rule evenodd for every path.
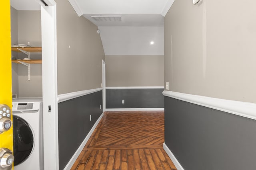
M 104 115 L 104 113 L 102 113 L 100 115 L 100 117 L 98 118 L 98 120 L 95 122 L 95 124 L 93 125 L 92 129 L 90 130 L 88 135 L 85 137 L 84 141 L 81 143 L 80 147 L 76 150 L 76 152 L 74 153 L 72 158 L 69 160 L 68 164 L 65 166 L 64 170 L 70 170 L 72 168 L 72 166 L 75 163 L 76 159 L 78 158 L 80 152 L 83 150 L 84 146 L 88 142 L 89 138 L 91 137 L 94 129 L 97 127 L 97 125 L 100 122 L 100 119 L 103 117 L 103 115 Z

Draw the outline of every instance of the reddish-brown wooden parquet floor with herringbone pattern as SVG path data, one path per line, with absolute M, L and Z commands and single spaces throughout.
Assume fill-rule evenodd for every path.
M 71 170 L 177 170 L 163 143 L 164 111 L 105 112 Z

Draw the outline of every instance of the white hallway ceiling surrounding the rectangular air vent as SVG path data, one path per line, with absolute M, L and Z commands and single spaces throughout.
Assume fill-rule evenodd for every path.
M 163 26 L 174 0 L 69 0 L 78 16 L 97 26 Z M 95 21 L 91 16 L 120 15 L 122 21 Z

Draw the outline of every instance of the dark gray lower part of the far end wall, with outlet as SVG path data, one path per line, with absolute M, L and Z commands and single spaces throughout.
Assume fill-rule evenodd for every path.
M 164 89 L 106 89 L 106 108 L 164 108 L 163 91 Z

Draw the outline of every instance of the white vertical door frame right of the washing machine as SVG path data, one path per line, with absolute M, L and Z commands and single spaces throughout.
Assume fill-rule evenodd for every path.
M 48 4 L 41 7 L 44 169 L 58 170 L 56 2 L 44 2 Z

